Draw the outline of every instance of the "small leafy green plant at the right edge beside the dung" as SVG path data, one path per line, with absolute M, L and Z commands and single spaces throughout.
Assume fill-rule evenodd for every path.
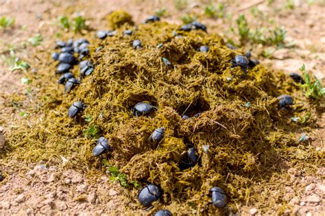
M 325 95 L 325 87 L 322 86 L 322 82 L 313 76 L 315 79 L 315 82 L 311 80 L 311 77 L 306 71 L 306 67 L 304 64 L 300 68 L 300 71 L 302 71 L 302 79 L 304 80 L 304 84 L 300 84 L 300 87 L 302 88 L 302 91 L 304 91 L 304 96 L 316 99 L 317 97 L 324 97 Z

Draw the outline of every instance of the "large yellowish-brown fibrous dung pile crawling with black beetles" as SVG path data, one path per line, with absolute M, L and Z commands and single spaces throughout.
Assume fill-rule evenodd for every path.
M 132 29 L 132 35 L 123 35 L 125 29 Z M 321 114 L 317 104 L 309 103 L 284 73 L 261 64 L 247 75 L 239 67 L 230 69 L 231 60 L 245 51 L 229 49 L 217 34 L 182 32 L 165 22 L 137 27 L 126 23 L 115 36 L 88 40 L 95 71 L 69 93 L 58 88 L 55 62 L 38 63 L 31 84 L 33 108 L 8 134 L 6 158 L 62 163 L 64 156 L 67 167 L 84 171 L 104 171 L 101 160 L 106 158 L 129 182 L 161 187 L 163 197 L 154 202 L 152 212 L 167 208 L 197 215 L 220 211 L 210 202 L 211 187 L 226 191 L 228 208 L 234 211 L 241 204 L 267 211 L 284 202 L 268 191 L 288 180 L 289 165 L 306 172 L 324 166 L 320 153 L 297 142 L 298 132 L 316 126 Z M 141 40 L 141 49 L 132 47 L 134 40 Z M 209 47 L 208 53 L 200 51 L 202 45 Z M 49 59 L 51 53 L 39 55 Z M 72 72 L 77 77 L 79 69 Z M 276 97 L 284 94 L 291 95 L 294 104 L 279 110 Z M 8 99 L 8 106 L 10 100 L 23 106 L 18 96 Z M 67 111 L 75 101 L 86 109 L 74 119 Z M 135 117 L 133 108 L 143 101 L 156 108 L 149 116 Z M 290 120 L 308 113 L 311 117 L 303 125 Z M 149 137 L 161 127 L 165 137 L 152 145 Z M 99 136 L 108 138 L 112 151 L 93 158 Z M 180 169 L 189 147 L 195 147 L 197 163 Z M 132 204 L 121 211 L 143 209 L 137 201 L 139 189 L 128 191 L 126 199 Z

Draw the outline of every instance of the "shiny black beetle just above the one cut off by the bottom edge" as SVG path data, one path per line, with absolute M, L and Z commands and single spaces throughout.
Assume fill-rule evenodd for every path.
M 139 202 L 147 207 L 155 202 L 161 197 L 160 188 L 154 184 L 148 184 L 147 186 L 143 187 L 141 191 L 139 191 L 138 199 Z

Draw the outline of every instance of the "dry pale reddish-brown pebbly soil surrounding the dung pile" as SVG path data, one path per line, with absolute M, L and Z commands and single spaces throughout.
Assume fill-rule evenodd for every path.
M 16 19 L 14 27 L 0 32 L 0 53 L 8 54 L 8 47 L 16 47 L 16 55 L 27 60 L 35 58 L 34 53 L 43 49 L 51 49 L 56 33 L 64 34 L 58 29 L 56 20 L 59 15 L 80 12 L 86 17 L 87 24 L 96 29 L 108 29 L 104 17 L 113 10 L 126 10 L 132 14 L 136 23 L 141 23 L 147 16 L 159 8 L 166 8 L 163 21 L 181 24 L 184 14 L 198 16 L 206 23 L 209 32 L 218 32 L 224 37 L 236 37 L 230 31 L 228 19 L 210 19 L 204 16 L 204 8 L 210 1 L 187 1 L 182 10 L 176 8 L 176 1 L 43 1 L 43 0 L 2 0 L 0 1 L 0 16 L 10 16 Z M 276 49 L 262 45 L 248 45 L 254 57 L 258 56 L 262 64 L 290 72 L 298 72 L 302 64 L 320 79 L 325 77 L 325 2 L 324 1 L 293 1 L 293 8 L 288 8 L 289 1 L 221 1 L 226 3 L 226 13 L 236 18 L 245 14 L 252 27 L 258 27 L 258 21 L 273 20 L 278 26 L 287 30 L 286 40 L 294 42 L 295 47 Z M 286 7 L 287 5 L 287 7 Z M 256 7 L 261 15 L 252 15 Z M 69 14 L 70 15 L 70 14 Z M 233 20 L 234 20 L 233 18 Z M 233 23 L 233 22 L 232 22 Z M 43 45 L 32 47 L 23 42 L 40 33 Z M 95 32 L 93 32 L 95 35 Z M 267 58 L 262 58 L 263 50 L 271 50 Z M 272 50 L 274 50 L 272 52 Z M 37 70 L 37 64 L 32 65 L 28 73 Z M 5 64 L 0 67 L 0 104 L 4 97 L 16 93 L 23 95 L 25 86 L 21 82 L 23 72 L 10 72 Z M 0 126 L 4 134 L 10 133 L 14 120 L 19 115 L 14 108 L 0 110 Z M 319 151 L 324 151 L 324 115 L 320 128 L 309 134 L 312 145 Z M 1 133 L 1 132 L 0 132 Z M 0 143 L 1 148 L 1 143 Z M 0 149 L 1 150 L 1 149 Z M 1 157 L 0 157 L 1 158 Z M 6 178 L 0 183 L 0 215 L 96 215 L 110 214 L 117 206 L 128 205 L 119 194 L 128 191 L 117 183 L 110 183 L 104 173 L 96 182 L 89 182 L 85 173 L 78 173 L 62 165 L 46 167 L 45 162 L 25 164 L 21 161 L 11 161 L 10 164 L 0 159 L 0 170 L 6 173 Z M 299 186 L 301 196 L 287 200 L 291 206 L 285 209 L 286 214 L 324 215 L 325 207 L 325 167 L 320 167 L 313 176 L 306 176 L 303 170 L 291 167 L 288 170 L 290 182 L 284 185 L 288 194 L 295 193 L 293 185 Z M 276 195 L 275 189 L 270 195 Z M 288 198 L 288 199 L 289 199 Z M 256 211 L 254 210 L 256 208 Z M 274 206 L 268 213 L 276 215 L 282 206 Z M 282 211 L 283 212 L 283 211 Z M 258 215 L 258 206 L 243 205 L 239 215 Z

